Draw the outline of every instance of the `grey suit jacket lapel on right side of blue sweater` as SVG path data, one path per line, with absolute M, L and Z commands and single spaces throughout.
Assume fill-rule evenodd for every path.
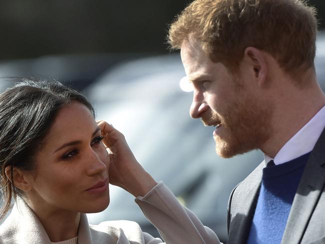
M 311 151 L 303 171 L 283 233 L 282 244 L 300 243 L 302 239 L 325 183 L 324 147 L 325 129 Z

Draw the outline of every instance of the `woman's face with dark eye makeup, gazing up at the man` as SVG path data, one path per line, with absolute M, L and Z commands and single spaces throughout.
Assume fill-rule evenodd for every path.
M 98 212 L 108 206 L 110 160 L 101 139 L 85 105 L 73 101 L 58 111 L 30 174 L 33 208 Z

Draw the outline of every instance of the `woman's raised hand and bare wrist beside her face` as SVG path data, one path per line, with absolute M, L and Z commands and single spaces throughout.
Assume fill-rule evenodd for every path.
M 109 183 L 122 187 L 135 197 L 144 196 L 157 182 L 137 162 L 121 132 L 106 121 L 98 120 L 97 124 L 108 148 Z

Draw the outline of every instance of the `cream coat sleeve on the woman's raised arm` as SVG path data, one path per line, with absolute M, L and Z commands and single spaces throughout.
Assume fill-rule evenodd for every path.
M 166 244 L 220 244 L 213 230 L 183 207 L 162 181 L 145 196 L 136 197 L 135 202 Z

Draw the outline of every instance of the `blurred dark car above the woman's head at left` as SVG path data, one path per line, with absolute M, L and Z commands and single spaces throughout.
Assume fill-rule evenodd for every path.
M 0 92 L 21 77 L 54 78 L 77 90 L 83 90 L 111 66 L 146 55 L 145 53 L 94 53 L 1 60 Z

